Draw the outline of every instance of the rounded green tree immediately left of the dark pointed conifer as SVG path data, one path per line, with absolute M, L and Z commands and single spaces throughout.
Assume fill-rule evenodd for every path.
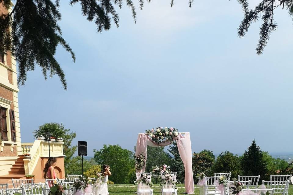
M 241 174 L 240 158 L 229 151 L 221 152 L 212 167 L 212 172 L 231 172 L 232 178 L 238 177 Z

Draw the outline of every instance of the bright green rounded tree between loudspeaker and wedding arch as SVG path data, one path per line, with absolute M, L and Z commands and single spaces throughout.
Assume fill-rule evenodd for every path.
M 134 168 L 134 158 L 131 151 L 119 145 L 104 145 L 99 151 L 94 150 L 95 161 L 99 165 L 110 165 L 111 180 L 114 183 L 128 183 L 128 172 Z

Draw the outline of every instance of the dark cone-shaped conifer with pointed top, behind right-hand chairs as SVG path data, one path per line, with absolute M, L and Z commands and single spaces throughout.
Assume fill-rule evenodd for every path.
M 262 179 L 266 178 L 267 163 L 263 158 L 263 153 L 259 146 L 256 145 L 255 140 L 252 141 L 248 150 L 242 155 L 241 168 L 244 175 L 258 176 Z

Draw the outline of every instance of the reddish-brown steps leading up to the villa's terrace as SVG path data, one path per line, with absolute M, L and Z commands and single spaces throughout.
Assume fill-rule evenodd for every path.
M 10 168 L 8 175 L 0 176 L 0 179 L 25 179 L 24 155 L 19 155 L 14 165 Z

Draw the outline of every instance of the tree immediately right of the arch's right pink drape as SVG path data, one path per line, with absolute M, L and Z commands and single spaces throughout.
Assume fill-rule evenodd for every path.
M 192 170 L 194 181 L 198 173 L 203 172 L 206 176 L 212 176 L 212 166 L 215 162 L 215 155 L 213 151 L 203 150 L 200 153 L 193 153 L 192 155 Z

